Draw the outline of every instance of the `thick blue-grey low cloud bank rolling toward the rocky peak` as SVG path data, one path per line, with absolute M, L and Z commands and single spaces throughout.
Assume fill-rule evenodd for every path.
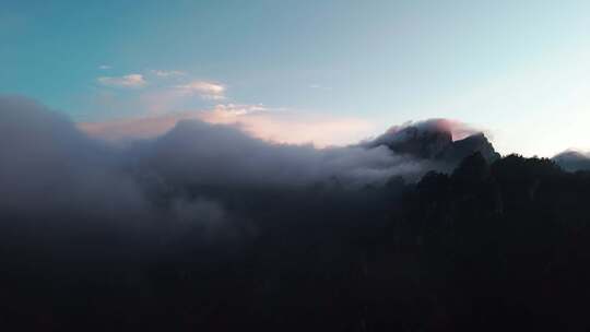
M 117 147 L 30 99 L 0 97 L 4 220 L 143 229 L 168 225 L 200 229 L 197 239 L 238 236 L 251 233 L 252 216 L 263 215 L 276 194 L 296 209 L 314 202 L 302 198 L 314 188 L 362 197 L 367 186 L 381 187 L 398 176 L 412 181 L 432 167 L 385 146 L 318 150 L 271 143 L 239 126 L 198 119 Z

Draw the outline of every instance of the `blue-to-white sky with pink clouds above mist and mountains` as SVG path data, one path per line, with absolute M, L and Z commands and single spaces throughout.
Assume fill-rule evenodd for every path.
M 450 118 L 504 154 L 590 151 L 581 0 L 3 0 L 0 63 L 0 94 L 110 139 L 199 118 L 323 146 Z

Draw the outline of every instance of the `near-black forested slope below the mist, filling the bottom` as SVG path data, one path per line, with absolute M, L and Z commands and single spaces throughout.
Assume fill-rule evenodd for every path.
M 170 237 L 166 228 L 104 223 L 88 230 L 68 216 L 39 226 L 3 215 L 0 323 L 14 331 L 590 328 L 589 173 L 473 154 L 415 185 L 208 190 L 248 221 L 238 232 L 246 236 L 200 239 L 196 227 Z

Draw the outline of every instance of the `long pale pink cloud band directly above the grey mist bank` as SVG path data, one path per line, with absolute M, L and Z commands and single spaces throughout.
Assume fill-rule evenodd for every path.
M 276 143 L 311 143 L 318 147 L 356 143 L 375 132 L 373 123 L 363 119 L 299 115 L 268 110 L 261 105 L 234 104 L 217 105 L 204 111 L 85 122 L 79 123 L 79 128 L 103 140 L 126 141 L 161 135 L 186 119 L 235 126 L 255 138 Z

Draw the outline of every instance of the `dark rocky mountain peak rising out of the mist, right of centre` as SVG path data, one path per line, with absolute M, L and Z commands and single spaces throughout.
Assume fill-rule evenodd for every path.
M 449 130 L 418 126 L 386 132 L 367 145 L 369 147 L 386 145 L 396 153 L 453 165 L 476 152 L 488 163 L 500 156 L 481 132 L 453 141 Z

